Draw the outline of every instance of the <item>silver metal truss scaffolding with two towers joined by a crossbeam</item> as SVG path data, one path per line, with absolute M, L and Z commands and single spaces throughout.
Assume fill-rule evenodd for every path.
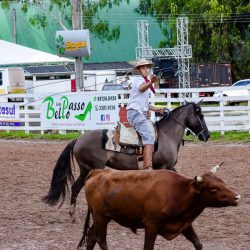
M 179 88 L 190 88 L 189 59 L 192 58 L 192 46 L 188 45 L 188 18 L 179 17 L 176 20 L 177 45 L 174 48 L 153 49 L 149 45 L 148 21 L 137 21 L 138 47 L 136 59 L 154 57 L 173 57 L 178 60 Z

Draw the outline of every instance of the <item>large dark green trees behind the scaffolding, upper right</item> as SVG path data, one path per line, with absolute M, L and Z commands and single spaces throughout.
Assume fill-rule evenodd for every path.
M 249 77 L 249 1 L 140 0 L 137 12 L 149 13 L 160 23 L 166 36 L 161 47 L 176 44 L 176 17 L 188 16 L 193 62 L 230 62 L 234 80 Z

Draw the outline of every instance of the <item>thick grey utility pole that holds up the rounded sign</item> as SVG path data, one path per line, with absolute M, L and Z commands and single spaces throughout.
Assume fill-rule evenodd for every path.
M 74 30 L 82 29 L 82 20 L 81 20 L 82 6 L 81 4 L 82 4 L 81 0 L 72 0 L 72 5 L 73 5 L 72 22 L 73 22 Z M 84 91 L 82 57 L 75 58 L 75 77 L 76 77 L 76 89 L 80 91 Z

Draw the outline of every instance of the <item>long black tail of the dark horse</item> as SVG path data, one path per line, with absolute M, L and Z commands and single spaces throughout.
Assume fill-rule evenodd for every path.
M 50 206 L 55 206 L 60 200 L 63 204 L 66 193 L 69 191 L 68 181 L 73 183 L 74 176 L 71 169 L 71 159 L 76 139 L 68 143 L 55 165 L 50 184 L 49 193 L 42 198 L 42 201 Z

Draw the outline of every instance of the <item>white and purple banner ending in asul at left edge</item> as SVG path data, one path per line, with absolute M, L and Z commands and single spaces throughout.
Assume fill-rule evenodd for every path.
M 19 125 L 19 107 L 16 104 L 0 103 L 0 126 Z

